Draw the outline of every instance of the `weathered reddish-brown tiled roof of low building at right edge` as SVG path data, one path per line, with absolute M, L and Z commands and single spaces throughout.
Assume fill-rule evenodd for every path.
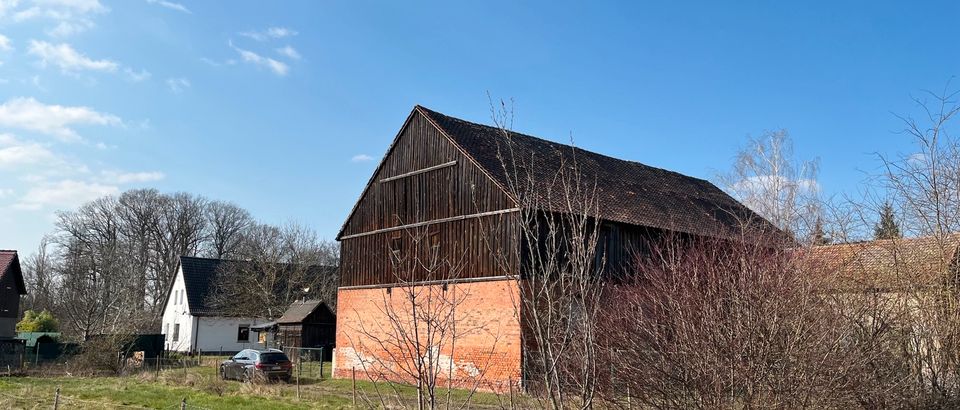
M 952 279 L 960 234 L 884 239 L 803 249 L 813 274 L 831 291 L 896 291 Z

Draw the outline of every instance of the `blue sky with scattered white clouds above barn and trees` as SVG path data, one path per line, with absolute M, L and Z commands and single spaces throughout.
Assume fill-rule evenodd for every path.
M 712 179 L 786 128 L 851 192 L 960 72 L 957 2 L 0 0 L 0 248 L 134 187 L 332 238 L 414 104 Z

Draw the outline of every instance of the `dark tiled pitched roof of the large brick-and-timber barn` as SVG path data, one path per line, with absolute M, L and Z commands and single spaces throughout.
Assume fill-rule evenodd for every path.
M 737 233 L 745 223 L 754 230 L 782 234 L 708 181 L 511 132 L 513 158 L 521 164 L 514 170 L 510 164 L 504 166 L 513 161 L 502 159 L 511 152 L 502 129 L 419 105 L 415 110 L 436 124 L 501 187 L 510 186 L 510 179 L 517 181 L 517 175 L 521 181 L 529 175 L 536 181 L 534 189 L 549 190 L 561 167 L 575 158 L 583 180 L 596 182 L 602 219 L 706 236 Z M 548 196 L 547 192 L 539 194 Z M 557 205 L 553 210 L 562 209 L 563 205 Z

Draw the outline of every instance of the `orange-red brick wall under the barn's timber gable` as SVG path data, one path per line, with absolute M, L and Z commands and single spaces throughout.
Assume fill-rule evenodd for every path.
M 446 386 L 445 376 L 450 367 L 454 368 L 452 379 L 457 387 L 476 385 L 482 390 L 504 391 L 511 380 L 518 385 L 521 340 L 516 304 L 519 290 L 513 280 L 450 284 L 446 290 L 442 285 L 394 287 L 390 293 L 386 288 L 340 289 L 333 377 L 350 378 L 351 369 L 355 368 L 357 378 L 411 381 L 408 369 L 412 368 L 414 355 L 410 354 L 411 350 L 397 346 L 398 339 L 404 339 L 397 336 L 398 331 L 411 332 L 413 328 L 411 294 L 417 295 L 417 309 L 421 312 L 418 317 L 421 318 L 422 351 L 433 349 L 433 357 L 443 369 L 443 386 Z M 425 317 L 446 317 L 452 306 L 456 308 L 456 338 L 449 336 L 452 330 L 447 330 L 448 336 L 441 338 L 438 333 L 442 326 L 427 329 L 427 325 L 422 324 Z M 391 316 L 395 320 L 391 320 Z M 427 343 L 425 335 L 431 330 L 439 342 Z M 406 341 L 412 342 L 412 337 Z

